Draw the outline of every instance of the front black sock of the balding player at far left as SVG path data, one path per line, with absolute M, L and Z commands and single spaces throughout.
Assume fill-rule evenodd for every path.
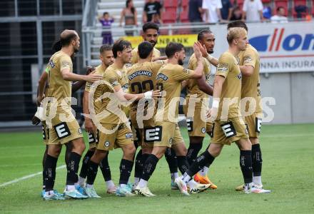
M 68 173 L 66 174 L 66 185 L 74 185 L 78 181 L 78 166 L 81 161 L 81 156 L 78 153 L 71 152 L 69 163 L 66 165 Z

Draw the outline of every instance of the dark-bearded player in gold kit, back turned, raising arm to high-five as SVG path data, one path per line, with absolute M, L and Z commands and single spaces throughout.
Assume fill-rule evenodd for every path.
M 180 101 L 182 81 L 203 76 L 201 52 L 196 44 L 193 46 L 193 49 L 198 61 L 195 71 L 182 66 L 186 57 L 182 44 L 171 42 L 166 46 L 168 63 L 161 66 L 156 77 L 157 86 L 162 91 L 163 96 L 158 99 L 155 117 L 155 141 L 153 151 L 143 166 L 141 180 L 135 188 L 135 192 L 138 195 L 153 196 L 153 193 L 147 187 L 148 179 L 153 174 L 159 159 L 162 158 L 167 148 L 172 147 L 176 151 L 178 167 L 182 173 L 188 168 L 186 146 L 178 128 L 178 101 Z M 190 184 L 191 193 L 206 190 L 210 186 L 200 185 L 196 182 L 191 182 Z

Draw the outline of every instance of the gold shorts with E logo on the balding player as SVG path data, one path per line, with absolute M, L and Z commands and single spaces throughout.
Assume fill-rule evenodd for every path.
M 66 121 L 61 121 L 61 113 L 66 116 Z M 51 120 L 51 125 L 48 144 L 64 144 L 77 138 L 83 138 L 81 128 L 71 111 L 58 109 L 56 116 Z

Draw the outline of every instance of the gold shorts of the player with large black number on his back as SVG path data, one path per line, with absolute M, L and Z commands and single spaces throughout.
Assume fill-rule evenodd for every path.
M 130 111 L 131 127 L 134 141 L 138 142 L 138 146 L 143 148 L 152 148 L 155 141 L 155 121 L 150 118 L 143 121 L 143 128 L 138 128 L 138 121 L 136 120 L 136 111 Z

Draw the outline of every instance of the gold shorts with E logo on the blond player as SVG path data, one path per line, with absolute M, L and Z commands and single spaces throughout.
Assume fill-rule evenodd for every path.
M 215 121 L 211 143 L 231 145 L 231 143 L 240 139 L 248 138 L 243 118 L 228 118 L 227 121 Z

